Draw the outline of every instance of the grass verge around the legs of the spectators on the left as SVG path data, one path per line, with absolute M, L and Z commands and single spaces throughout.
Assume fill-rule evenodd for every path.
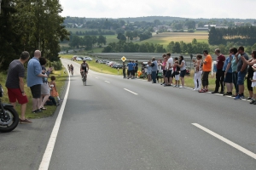
M 56 88 L 59 92 L 59 94 L 61 94 L 65 82 L 67 80 L 67 74 L 64 74 L 64 67 L 62 68 L 61 71 L 53 71 L 52 74 L 49 75 L 49 77 L 51 76 L 55 76 L 56 77 Z M 9 103 L 9 98 L 8 98 L 8 94 L 7 94 L 7 88 L 5 88 L 5 81 L 6 81 L 6 74 L 3 74 L 3 72 L 0 73 L 0 83 L 3 86 L 3 90 L 4 90 L 4 96 L 3 96 L 3 103 Z M 47 108 L 46 111 L 43 111 L 42 113 L 37 113 L 37 114 L 33 114 L 32 113 L 32 94 L 30 91 L 30 88 L 28 88 L 25 85 L 25 93 L 27 95 L 28 98 L 28 103 L 26 105 L 26 118 L 30 118 L 30 119 L 34 119 L 34 118 L 43 118 L 43 117 L 47 117 L 47 116 L 52 116 L 55 113 L 56 110 L 56 106 L 55 105 L 47 105 L 45 106 Z M 20 115 L 20 105 L 17 104 L 16 105 L 16 109 L 15 109 L 18 114 Z

